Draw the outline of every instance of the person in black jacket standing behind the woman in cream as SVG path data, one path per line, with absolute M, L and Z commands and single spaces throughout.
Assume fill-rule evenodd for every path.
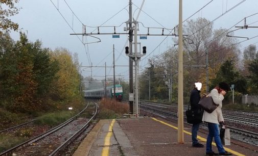
M 191 92 L 190 95 L 190 105 L 191 109 L 200 109 L 200 106 L 198 105 L 199 100 L 201 99 L 200 92 L 202 88 L 202 83 L 196 82 L 194 85 L 194 89 Z M 192 142 L 193 147 L 204 147 L 203 144 L 199 143 L 197 140 L 197 132 L 199 130 L 200 123 L 202 121 L 196 121 L 196 123 L 193 123 L 192 126 Z

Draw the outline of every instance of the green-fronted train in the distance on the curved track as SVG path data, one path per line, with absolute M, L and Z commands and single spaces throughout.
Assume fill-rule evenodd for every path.
M 85 98 L 103 98 L 105 97 L 105 88 L 84 90 Z M 108 86 L 106 89 L 106 97 L 114 96 L 114 86 Z M 123 99 L 123 87 L 115 85 L 115 98 L 121 101 Z

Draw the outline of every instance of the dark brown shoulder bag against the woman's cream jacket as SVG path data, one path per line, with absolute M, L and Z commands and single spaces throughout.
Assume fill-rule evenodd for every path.
M 203 96 L 198 104 L 208 113 L 212 113 L 219 106 L 214 103 L 212 96 Z

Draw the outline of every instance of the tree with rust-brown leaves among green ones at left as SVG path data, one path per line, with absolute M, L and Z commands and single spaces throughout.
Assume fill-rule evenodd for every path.
M 26 35 L 20 33 L 20 40 L 12 49 L 14 54 L 8 58 L 14 62 L 14 66 L 6 62 L 8 65 L 4 68 L 5 79 L 8 79 L 6 83 L 8 86 L 5 89 L 11 91 L 11 95 L 14 96 L 14 101 L 10 102 L 7 107 L 13 112 L 27 112 L 39 108 L 38 101 L 34 98 L 37 82 L 34 79 L 33 56 L 29 50 L 31 48 L 32 44 L 28 42 Z M 9 72 L 12 73 L 12 76 Z

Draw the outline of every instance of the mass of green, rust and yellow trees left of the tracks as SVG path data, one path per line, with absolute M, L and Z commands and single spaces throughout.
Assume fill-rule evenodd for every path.
M 16 42 L 0 34 L 0 45 L 0 107 L 33 113 L 60 110 L 82 99 L 78 63 L 68 50 L 42 48 L 22 33 Z

